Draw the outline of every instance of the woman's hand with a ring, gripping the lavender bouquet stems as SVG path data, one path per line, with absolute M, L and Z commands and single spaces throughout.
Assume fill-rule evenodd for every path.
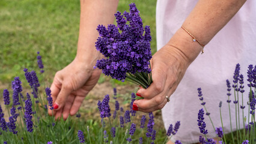
M 162 47 L 151 59 L 153 83 L 138 90 L 137 95 L 144 99 L 134 101 L 133 110 L 136 106 L 142 112 L 162 109 L 167 103 L 166 95 L 169 97 L 175 91 L 188 65 L 180 50 L 168 45 Z

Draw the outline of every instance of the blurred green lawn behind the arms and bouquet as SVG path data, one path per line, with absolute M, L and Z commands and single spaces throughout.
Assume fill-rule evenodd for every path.
M 129 11 L 131 2 L 135 2 L 141 12 L 144 26 L 149 25 L 151 28 L 154 53 L 156 0 L 120 0 L 118 11 Z M 47 82 L 51 83 L 56 71 L 66 67 L 75 58 L 79 16 L 78 0 L 1 0 L 0 82 L 10 83 L 15 76 L 25 79 L 24 67 L 38 70 L 36 56 L 37 51 L 40 51 L 44 75 Z M 104 80 L 101 77 L 100 82 Z

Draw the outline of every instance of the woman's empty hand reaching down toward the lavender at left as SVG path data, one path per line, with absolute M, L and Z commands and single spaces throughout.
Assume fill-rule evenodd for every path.
M 53 113 L 55 119 L 61 115 L 64 119 L 75 115 L 88 92 L 96 85 L 100 74 L 99 69 L 89 67 L 86 62 L 78 59 L 58 71 L 50 87 L 54 109 L 53 112 L 48 110 L 49 115 Z

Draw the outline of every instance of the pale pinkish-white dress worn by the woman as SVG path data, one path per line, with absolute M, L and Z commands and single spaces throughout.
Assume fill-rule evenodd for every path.
M 191 0 L 158 0 L 156 8 L 157 27 L 157 49 L 163 47 L 172 35 L 182 25 L 190 11 L 195 7 L 197 1 Z M 199 142 L 199 136 L 203 136 L 198 128 L 198 111 L 203 108 L 198 98 L 197 88 L 201 88 L 206 108 L 211 113 L 215 127 L 221 126 L 219 115 L 219 101 L 222 101 L 222 119 L 224 121 L 225 133 L 230 132 L 230 118 L 228 115 L 227 86 L 229 79 L 231 86 L 233 83 L 233 73 L 236 64 L 239 63 L 245 81 L 244 102 L 245 113 L 248 117 L 248 86 L 247 70 L 249 64 L 256 64 L 256 1 L 246 1 L 239 12 L 213 37 L 204 47 L 204 54 L 187 68 L 186 74 L 178 85 L 174 94 L 171 95 L 170 102 L 162 109 L 163 122 L 166 130 L 169 124 L 181 122 L 180 129 L 172 142 L 181 140 L 184 143 Z M 231 113 L 233 130 L 236 128 L 234 90 L 230 96 L 232 102 Z M 241 94 L 240 94 L 241 97 Z M 240 104 L 242 101 L 240 99 Z M 242 113 L 240 109 L 240 114 Z M 206 129 L 209 131 L 207 137 L 216 137 L 215 130 L 206 115 Z M 242 115 L 240 116 L 240 127 Z M 247 122 L 246 122 L 247 123 Z

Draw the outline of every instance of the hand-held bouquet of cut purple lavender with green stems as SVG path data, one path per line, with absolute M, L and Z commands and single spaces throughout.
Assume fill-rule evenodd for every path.
M 105 59 L 98 60 L 96 67 L 113 79 L 126 79 L 142 88 L 148 88 L 153 82 L 150 66 L 150 26 L 143 27 L 134 3 L 129 6 L 130 13 L 124 11 L 121 14 L 117 11 L 115 14 L 117 26 L 98 26 L 100 37 L 96 41 L 96 49 Z

